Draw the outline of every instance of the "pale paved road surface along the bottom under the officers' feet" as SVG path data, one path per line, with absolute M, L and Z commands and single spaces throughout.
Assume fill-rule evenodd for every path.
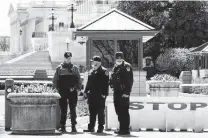
M 66 133 L 66 134 L 55 134 L 55 135 L 12 135 L 11 133 L 0 133 L 0 138 L 119 138 L 119 137 L 128 137 L 128 138 L 208 138 L 208 133 L 186 133 L 186 132 L 132 132 L 131 135 L 127 136 L 118 136 L 113 134 L 113 132 L 106 132 L 104 134 L 97 133 Z

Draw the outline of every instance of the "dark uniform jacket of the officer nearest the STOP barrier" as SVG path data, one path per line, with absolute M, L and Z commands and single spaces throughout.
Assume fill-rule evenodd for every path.
M 130 95 L 133 82 L 133 70 L 129 63 L 124 61 L 121 65 L 114 66 L 110 78 L 110 86 L 114 93 Z

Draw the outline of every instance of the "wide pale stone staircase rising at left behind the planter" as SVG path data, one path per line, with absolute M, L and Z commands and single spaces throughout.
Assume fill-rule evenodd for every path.
M 37 51 L 21 56 L 0 65 L 0 75 L 30 76 L 35 74 L 35 70 L 46 70 L 47 75 L 53 76 L 56 66 L 60 64 L 50 61 L 48 51 Z

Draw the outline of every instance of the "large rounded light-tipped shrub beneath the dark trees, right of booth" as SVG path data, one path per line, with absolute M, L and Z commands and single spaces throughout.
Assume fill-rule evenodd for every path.
M 165 72 L 178 77 L 181 71 L 192 69 L 193 57 L 187 54 L 190 50 L 185 48 L 166 49 L 156 60 L 156 67 L 160 72 Z

